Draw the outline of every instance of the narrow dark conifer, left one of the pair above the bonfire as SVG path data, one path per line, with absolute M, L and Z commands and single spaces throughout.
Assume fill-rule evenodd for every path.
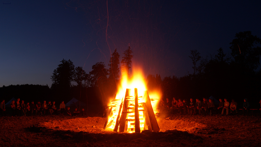
M 110 66 L 109 79 L 113 81 L 118 80 L 119 78 L 120 69 L 118 64 L 120 64 L 120 55 L 118 54 L 117 49 L 115 49 L 111 55 L 110 64 L 108 64 Z

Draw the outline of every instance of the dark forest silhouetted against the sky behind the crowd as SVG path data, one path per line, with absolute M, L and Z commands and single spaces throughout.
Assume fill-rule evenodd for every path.
M 231 53 L 225 54 L 223 49 L 216 55 L 202 58 L 197 50 L 191 50 L 193 73 L 182 77 L 147 75 L 145 81 L 148 91 L 161 89 L 162 98 L 227 98 L 242 102 L 247 98 L 251 107 L 258 107 L 261 99 L 261 40 L 253 36 L 251 31 L 236 33 L 230 42 Z M 63 100 L 67 103 L 76 98 L 88 104 L 89 110 L 103 111 L 108 100 L 114 97 L 116 85 L 120 81 L 120 70 L 131 68 L 132 50 L 129 47 L 124 53 L 120 64 L 117 49 L 111 55 L 110 64 L 106 68 L 103 62 L 92 66 L 92 71 L 86 73 L 82 67 L 75 67 L 71 60 L 62 60 L 54 70 L 52 85 L 10 85 L 0 87 L 0 98 L 6 103 L 11 98 L 25 101 L 54 100 L 58 104 Z M 128 73 L 129 75 L 129 73 Z M 72 82 L 77 83 L 76 85 Z

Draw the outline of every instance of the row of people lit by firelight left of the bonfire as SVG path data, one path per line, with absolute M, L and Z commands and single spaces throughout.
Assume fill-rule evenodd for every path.
M 36 104 L 34 104 L 34 101 L 31 101 L 31 103 L 26 102 L 24 100 L 21 101 L 17 98 L 16 101 L 12 100 L 10 103 L 9 110 L 5 107 L 5 101 L 4 99 L 1 100 L 0 103 L 0 111 L 1 111 L 1 117 L 5 116 L 7 117 L 7 111 L 10 111 L 9 114 L 11 116 L 37 116 L 37 115 L 67 115 L 67 116 L 85 116 L 86 112 L 84 109 L 81 109 L 80 111 L 75 108 L 73 112 L 70 111 L 69 106 L 65 106 L 64 101 L 61 102 L 59 107 L 56 107 L 55 101 L 51 103 L 51 101 L 43 101 L 43 104 L 41 104 L 40 101 L 38 101 Z

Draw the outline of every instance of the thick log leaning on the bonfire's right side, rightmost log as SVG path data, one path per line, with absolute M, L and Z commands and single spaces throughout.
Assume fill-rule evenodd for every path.
M 154 114 L 154 111 L 153 111 L 153 108 L 152 108 L 152 105 L 151 105 L 150 96 L 149 96 L 148 91 L 144 91 L 144 98 L 145 98 L 145 103 L 146 103 L 148 115 L 149 115 L 149 118 L 150 118 L 152 131 L 153 132 L 159 132 L 159 125 L 158 125 L 158 122 L 156 120 L 156 117 L 155 117 L 155 114 Z

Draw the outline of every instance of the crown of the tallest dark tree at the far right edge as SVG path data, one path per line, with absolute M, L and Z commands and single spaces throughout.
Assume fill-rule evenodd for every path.
M 242 68 L 255 70 L 260 65 L 261 39 L 253 36 L 251 31 L 236 33 L 235 39 L 230 42 L 231 55 Z

